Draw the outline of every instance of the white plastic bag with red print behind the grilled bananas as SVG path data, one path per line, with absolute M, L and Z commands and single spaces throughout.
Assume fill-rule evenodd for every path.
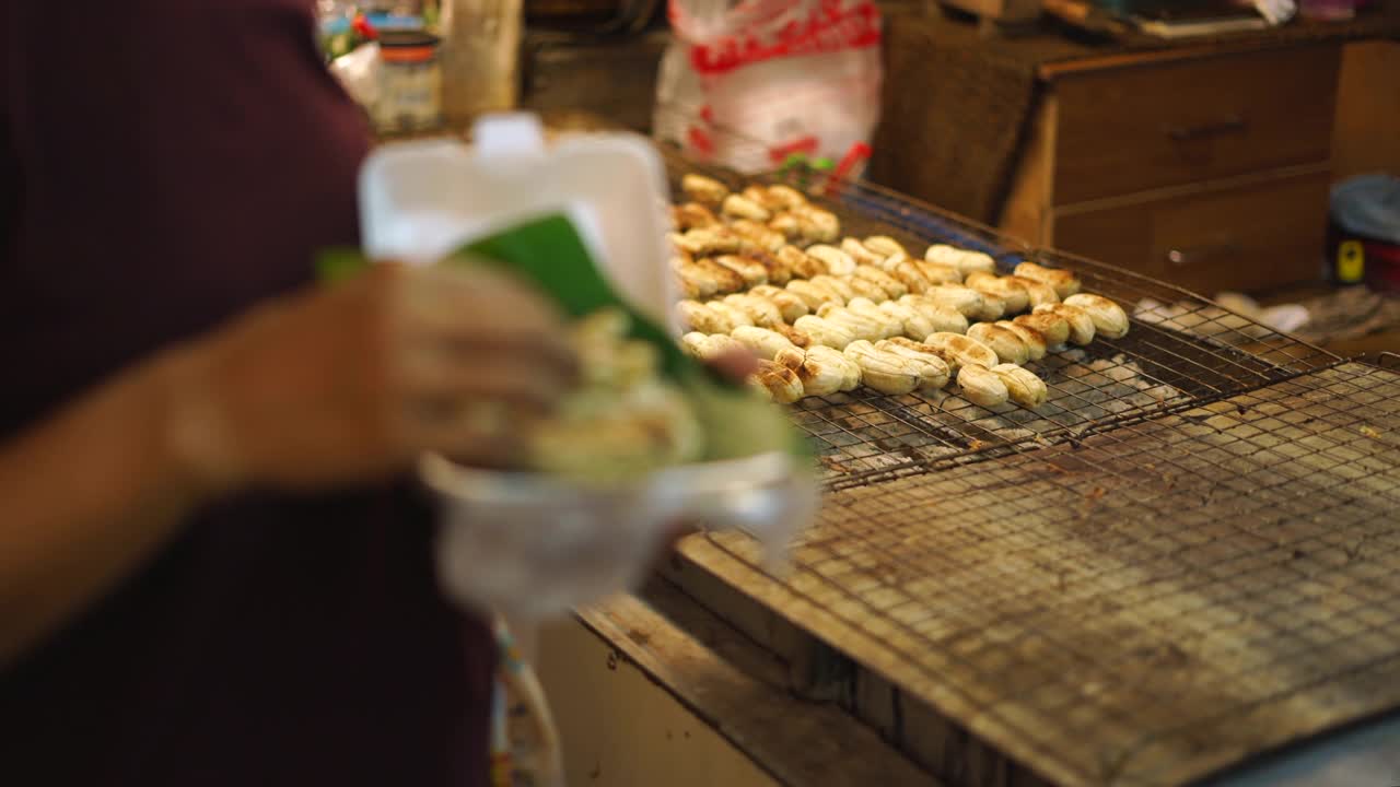
M 881 17 L 869 0 L 669 0 L 658 139 L 759 172 L 792 155 L 868 153 L 879 120 Z

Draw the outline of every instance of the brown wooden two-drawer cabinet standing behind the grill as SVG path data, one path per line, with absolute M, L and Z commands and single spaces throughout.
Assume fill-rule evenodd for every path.
M 1338 45 L 1061 64 L 1001 227 L 1205 294 L 1313 279 Z

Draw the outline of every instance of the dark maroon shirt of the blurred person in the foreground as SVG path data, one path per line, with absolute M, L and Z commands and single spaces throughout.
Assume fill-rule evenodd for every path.
M 354 242 L 309 0 L 0 11 L 0 441 Z M 491 650 L 407 489 L 253 493 L 0 674 L 0 784 L 484 784 Z

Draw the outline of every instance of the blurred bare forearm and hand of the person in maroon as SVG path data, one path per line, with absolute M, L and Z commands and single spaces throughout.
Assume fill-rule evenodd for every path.
M 452 266 L 377 266 L 130 368 L 0 445 L 0 668 L 202 501 L 381 479 L 423 451 L 510 462 L 512 419 L 574 372 L 547 304 Z

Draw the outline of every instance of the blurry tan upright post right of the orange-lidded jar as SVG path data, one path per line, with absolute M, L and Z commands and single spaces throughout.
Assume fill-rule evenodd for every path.
M 440 0 L 442 115 L 454 127 L 518 101 L 521 0 Z

